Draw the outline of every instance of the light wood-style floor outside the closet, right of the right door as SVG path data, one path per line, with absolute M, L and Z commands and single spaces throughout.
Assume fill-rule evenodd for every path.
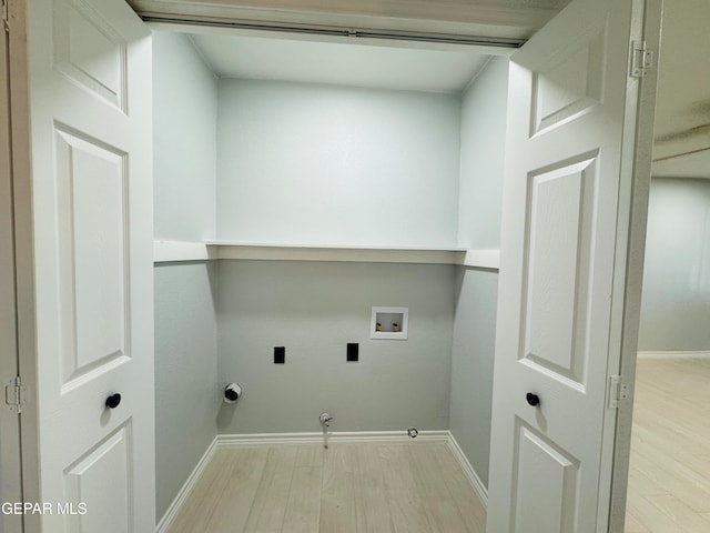
M 710 532 L 710 360 L 640 359 L 626 533 Z

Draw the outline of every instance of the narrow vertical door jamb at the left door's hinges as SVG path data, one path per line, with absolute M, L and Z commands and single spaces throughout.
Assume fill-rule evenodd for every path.
M 18 359 L 19 375 L 22 376 L 22 382 L 29 390 L 28 402 L 22 405 L 20 424 L 22 495 L 26 502 L 40 502 L 27 19 L 26 2 L 23 0 L 7 1 L 9 14 L 9 87 L 12 123 L 11 152 Z M 40 531 L 40 516 L 37 514 L 26 515 L 24 531 Z

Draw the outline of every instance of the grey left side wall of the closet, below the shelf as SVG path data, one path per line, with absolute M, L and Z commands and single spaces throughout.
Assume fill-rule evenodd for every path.
M 216 435 L 215 266 L 155 268 L 156 520 Z

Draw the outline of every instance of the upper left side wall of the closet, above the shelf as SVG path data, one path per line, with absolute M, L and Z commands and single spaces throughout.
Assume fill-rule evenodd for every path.
M 215 237 L 217 80 L 190 39 L 153 32 L 155 238 Z

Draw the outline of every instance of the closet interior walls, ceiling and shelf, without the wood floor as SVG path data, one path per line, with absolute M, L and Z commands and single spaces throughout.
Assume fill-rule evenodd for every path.
M 181 31 L 153 32 L 156 520 L 216 435 L 323 412 L 450 431 L 485 490 L 509 50 Z

